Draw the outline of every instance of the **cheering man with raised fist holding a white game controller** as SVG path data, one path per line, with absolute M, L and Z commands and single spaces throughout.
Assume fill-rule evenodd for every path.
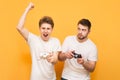
M 24 27 L 28 12 L 34 8 L 30 3 L 25 9 L 17 26 L 17 30 L 30 46 L 32 70 L 30 80 L 56 80 L 54 64 L 57 62 L 58 52 L 61 50 L 60 41 L 51 37 L 54 22 L 51 17 L 44 16 L 39 21 L 40 36 L 29 32 Z

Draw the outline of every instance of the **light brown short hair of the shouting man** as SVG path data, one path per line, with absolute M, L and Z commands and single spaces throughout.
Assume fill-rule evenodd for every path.
M 49 16 L 43 16 L 40 20 L 39 20 L 39 27 L 41 27 L 41 25 L 43 23 L 48 23 L 52 26 L 52 28 L 54 27 L 54 22 L 53 19 Z

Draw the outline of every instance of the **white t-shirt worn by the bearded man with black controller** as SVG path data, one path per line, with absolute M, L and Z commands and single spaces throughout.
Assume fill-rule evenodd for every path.
M 97 48 L 90 39 L 80 43 L 76 36 L 67 37 L 63 42 L 62 52 L 69 50 L 81 54 L 85 60 L 97 61 Z M 90 80 L 89 72 L 75 58 L 66 59 L 62 77 L 68 80 Z

